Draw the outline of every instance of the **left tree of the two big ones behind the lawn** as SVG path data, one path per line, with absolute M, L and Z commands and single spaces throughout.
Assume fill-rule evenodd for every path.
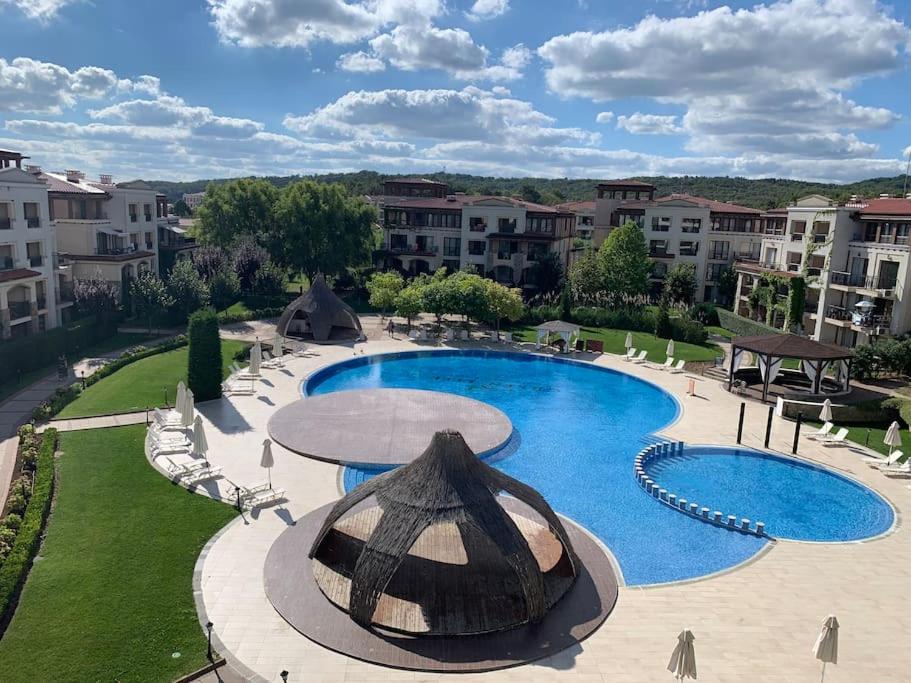
M 278 189 L 267 180 L 212 183 L 196 209 L 196 234 L 206 244 L 223 247 L 245 235 L 261 240 L 273 226 L 277 199 Z

